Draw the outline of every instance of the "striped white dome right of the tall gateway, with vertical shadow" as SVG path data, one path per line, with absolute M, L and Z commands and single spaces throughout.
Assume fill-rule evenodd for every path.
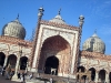
M 104 51 L 105 51 L 105 44 L 97 35 L 97 33 L 94 32 L 94 34 L 92 37 L 90 37 L 89 39 L 85 40 L 85 42 L 82 45 L 82 50 L 90 51 L 90 52 L 104 53 Z

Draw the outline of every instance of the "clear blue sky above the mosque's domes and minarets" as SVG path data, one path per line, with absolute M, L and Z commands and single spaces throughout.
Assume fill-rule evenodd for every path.
M 105 43 L 105 54 L 111 54 L 111 0 L 0 0 L 0 34 L 4 24 L 17 19 L 26 28 L 30 40 L 38 22 L 38 9 L 43 7 L 42 20 L 51 20 L 61 9 L 67 24 L 79 27 L 79 17 L 84 15 L 81 45 L 97 30 Z

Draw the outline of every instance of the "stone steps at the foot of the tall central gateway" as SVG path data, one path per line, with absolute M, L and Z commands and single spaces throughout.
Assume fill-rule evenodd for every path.
M 51 82 L 51 80 L 53 82 Z M 31 80 L 27 79 L 26 83 L 77 83 L 77 80 L 50 74 L 34 73 L 34 77 Z

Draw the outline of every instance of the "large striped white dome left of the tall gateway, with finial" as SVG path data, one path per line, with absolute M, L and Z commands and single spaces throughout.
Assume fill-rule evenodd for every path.
M 19 21 L 19 14 L 16 20 L 7 23 L 3 27 L 2 35 L 14 37 L 22 40 L 26 38 L 26 29 L 22 27 L 22 24 Z

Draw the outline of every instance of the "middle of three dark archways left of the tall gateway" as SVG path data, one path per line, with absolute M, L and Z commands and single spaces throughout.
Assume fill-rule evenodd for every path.
M 10 54 L 8 56 L 7 66 L 10 65 L 11 69 L 14 69 L 16 68 L 16 63 L 17 63 L 17 56 L 14 54 Z

